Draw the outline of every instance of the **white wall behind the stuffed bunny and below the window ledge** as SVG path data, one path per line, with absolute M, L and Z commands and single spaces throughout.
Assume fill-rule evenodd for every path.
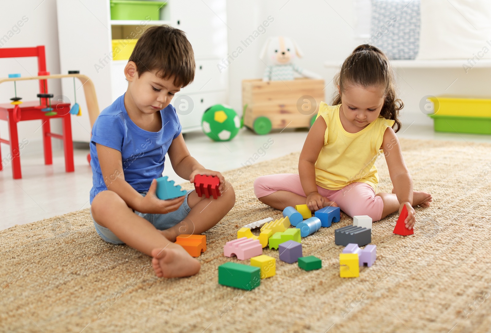
M 304 53 L 304 58 L 299 59 L 298 64 L 321 74 L 326 84 L 331 82 L 335 71 L 325 68 L 324 63 L 329 60 L 342 61 L 356 46 L 363 44 L 363 40 L 355 38 L 356 16 L 353 0 L 229 0 L 229 53 L 235 51 L 241 45 L 241 40 L 257 29 L 270 15 L 274 21 L 266 28 L 266 32 L 229 66 L 229 103 L 241 114 L 241 82 L 243 79 L 262 77 L 265 65 L 258 56 L 269 36 L 285 35 L 296 40 Z M 469 54 L 470 57 L 472 54 Z M 419 102 L 426 95 L 490 96 L 490 74 L 490 69 L 477 68 L 467 74 L 462 68 L 397 71 L 400 98 L 405 103 L 401 117 L 403 124 L 408 126 L 414 121 L 414 124 L 433 125 L 433 120 L 419 109 Z M 330 101 L 332 93 L 331 83 L 326 88 L 327 102 Z

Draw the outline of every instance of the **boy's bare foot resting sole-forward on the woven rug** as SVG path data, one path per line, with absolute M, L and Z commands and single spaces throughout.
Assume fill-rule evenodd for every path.
M 159 278 L 180 278 L 199 272 L 201 265 L 178 244 L 152 250 L 152 266 Z

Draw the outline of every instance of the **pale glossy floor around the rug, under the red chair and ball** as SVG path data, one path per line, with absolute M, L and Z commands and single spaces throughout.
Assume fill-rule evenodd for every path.
M 204 166 L 218 171 L 226 171 L 243 166 L 254 154 L 256 162 L 273 160 L 290 152 L 300 151 L 307 135 L 306 130 L 285 130 L 258 136 L 249 130 L 227 143 L 215 143 L 200 132 L 186 135 L 186 143 L 191 152 Z M 409 126 L 398 133 L 399 137 L 425 140 L 453 140 L 465 142 L 490 142 L 491 136 L 435 133 L 430 126 Z M 274 143 L 264 153 L 261 147 Z M 2 146 L 3 157 L 8 146 Z M 87 163 L 88 150 L 75 149 L 75 172 L 65 173 L 63 152 L 54 152 L 52 166 L 45 166 L 42 149 L 38 152 L 23 153 L 21 156 L 22 179 L 12 179 L 11 165 L 0 171 L 0 230 L 16 224 L 34 222 L 55 215 L 66 214 L 89 207 L 89 190 L 92 187 L 92 172 Z M 272 163 L 274 163 L 272 161 Z M 164 175 L 177 184 L 186 180 L 178 177 L 170 163 L 165 166 Z

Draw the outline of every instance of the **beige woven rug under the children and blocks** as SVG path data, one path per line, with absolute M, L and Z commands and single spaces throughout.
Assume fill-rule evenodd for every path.
M 413 236 L 392 234 L 394 214 L 375 223 L 377 261 L 359 278 L 339 278 L 334 229 L 352 223 L 342 214 L 302 239 L 304 255 L 321 258 L 322 269 L 278 260 L 276 276 L 252 291 L 218 285 L 218 265 L 240 262 L 223 256 L 238 227 L 280 216 L 255 199 L 252 183 L 296 172 L 299 155 L 291 154 L 225 172 L 237 203 L 206 233 L 201 271 L 190 278 L 157 278 L 149 257 L 105 243 L 88 209 L 1 231 L 0 331 L 490 332 L 491 145 L 401 143 L 414 189 L 431 192 L 433 206 L 416 209 Z M 390 191 L 378 164 L 381 190 Z

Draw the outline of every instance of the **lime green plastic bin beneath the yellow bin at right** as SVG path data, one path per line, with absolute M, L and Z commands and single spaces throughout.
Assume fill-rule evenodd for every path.
M 491 134 L 491 117 L 430 115 L 436 132 Z

